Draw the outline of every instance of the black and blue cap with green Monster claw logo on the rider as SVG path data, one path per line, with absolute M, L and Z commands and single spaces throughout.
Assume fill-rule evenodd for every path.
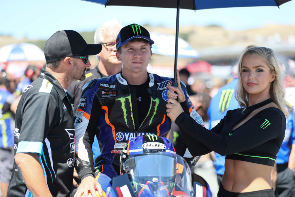
M 140 25 L 133 23 L 131 25 L 123 27 L 120 30 L 116 41 L 117 51 L 120 46 L 123 46 L 124 44 L 126 44 L 134 38 L 146 39 L 149 41 L 150 45 L 155 43 L 152 39 L 150 39 L 150 33 L 148 32 L 148 30 L 146 30 L 144 27 Z

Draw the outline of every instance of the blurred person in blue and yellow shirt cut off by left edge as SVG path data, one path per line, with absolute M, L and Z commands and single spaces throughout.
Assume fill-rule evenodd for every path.
M 14 89 L 13 76 L 2 70 L 0 73 L 0 187 L 2 197 L 6 197 L 7 194 L 14 160 L 14 118 L 9 108 L 8 110 L 3 108 L 7 100 L 14 98 L 12 95 Z

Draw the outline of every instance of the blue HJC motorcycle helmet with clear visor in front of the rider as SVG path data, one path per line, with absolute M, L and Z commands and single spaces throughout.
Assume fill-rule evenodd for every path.
M 131 139 L 120 157 L 120 173 L 127 173 L 138 197 L 171 196 L 177 170 L 171 141 L 156 135 Z

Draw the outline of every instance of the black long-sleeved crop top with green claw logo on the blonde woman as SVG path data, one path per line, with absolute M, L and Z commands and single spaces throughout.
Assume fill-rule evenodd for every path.
M 272 99 L 267 99 L 247 107 L 244 112 L 241 108 L 229 110 L 211 130 L 196 123 L 186 113 L 181 113 L 175 123 L 193 156 L 215 151 L 226 155 L 225 159 L 274 166 L 286 129 L 286 118 L 280 109 L 263 109 L 242 126 L 232 129 L 253 110 L 271 102 Z

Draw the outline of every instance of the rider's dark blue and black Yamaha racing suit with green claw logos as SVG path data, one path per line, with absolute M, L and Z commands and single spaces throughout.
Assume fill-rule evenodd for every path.
M 81 180 L 93 176 L 91 144 L 94 135 L 101 150 L 96 159 L 99 172 L 109 178 L 119 175 L 120 153 L 128 140 L 145 134 L 166 136 L 171 128 L 171 120 L 166 115 L 168 84 L 171 83 L 171 78 L 148 73 L 146 95 L 150 98 L 144 105 L 149 107 L 142 122 L 139 122 L 137 108 L 140 98 L 132 92 L 121 72 L 85 84 L 75 121 L 75 167 Z M 192 103 L 182 82 L 181 87 L 186 95 L 182 103 L 187 104 L 191 112 Z M 192 114 L 195 120 L 201 118 L 195 111 Z

